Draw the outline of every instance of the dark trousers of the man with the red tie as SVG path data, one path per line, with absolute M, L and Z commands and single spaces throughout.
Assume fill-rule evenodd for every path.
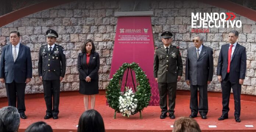
M 235 100 L 235 117 L 240 117 L 241 112 L 241 87 L 242 85 L 239 82 L 231 83 L 230 74 L 227 74 L 226 77 L 221 81 L 221 90 L 222 90 L 222 114 L 228 116 L 228 111 L 230 110 L 229 100 L 231 88 L 233 90 L 234 100 Z

